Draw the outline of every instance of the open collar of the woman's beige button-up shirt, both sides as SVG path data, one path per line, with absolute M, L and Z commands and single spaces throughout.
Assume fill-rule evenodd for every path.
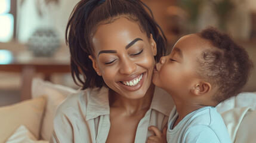
M 88 97 L 86 120 L 94 119 L 101 115 L 110 114 L 109 107 L 109 88 L 103 86 L 100 88 L 95 88 L 87 91 L 90 94 Z M 172 108 L 174 107 L 174 102 L 172 101 L 171 95 L 158 86 L 155 86 L 155 92 L 153 95 L 152 103 L 150 109 L 159 111 L 165 116 L 169 116 Z

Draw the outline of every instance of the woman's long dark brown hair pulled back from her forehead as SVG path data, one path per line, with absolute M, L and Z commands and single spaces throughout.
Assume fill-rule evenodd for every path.
M 71 54 L 73 80 L 77 85 L 79 84 L 76 80 L 82 83 L 82 89 L 101 88 L 104 85 L 103 78 L 98 76 L 92 67 L 92 61 L 88 58 L 89 55 L 94 56 L 92 36 L 100 24 L 111 23 L 115 18 L 124 16 L 138 23 L 141 31 L 145 32 L 148 38 L 150 33 L 153 35 L 158 49 L 156 61 L 165 55 L 164 33 L 160 35 L 161 28 L 153 20 L 153 15 L 150 17 L 146 12 L 143 5 L 139 0 L 82 0 L 75 6 L 67 23 L 66 43 L 69 45 Z M 151 11 L 150 13 L 152 14 Z

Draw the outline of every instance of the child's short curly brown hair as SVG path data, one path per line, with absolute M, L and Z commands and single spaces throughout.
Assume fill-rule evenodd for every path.
M 211 43 L 198 61 L 200 74 L 216 87 L 213 101 L 220 103 L 235 97 L 241 92 L 253 67 L 248 52 L 214 27 L 202 30 L 199 36 Z

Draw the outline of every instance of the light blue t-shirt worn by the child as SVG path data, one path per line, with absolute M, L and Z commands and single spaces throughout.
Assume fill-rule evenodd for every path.
M 187 114 L 187 116 L 172 129 L 177 117 L 178 113 L 176 107 L 174 107 L 168 120 L 168 130 L 166 133 L 167 142 L 231 142 L 224 121 L 214 107 L 208 106 L 199 108 Z

